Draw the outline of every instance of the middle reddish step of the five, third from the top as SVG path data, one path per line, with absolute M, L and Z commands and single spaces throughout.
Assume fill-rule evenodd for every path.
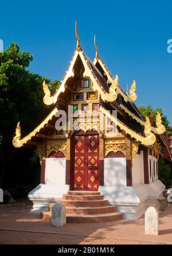
M 57 199 L 58 202 L 62 203 L 66 207 L 99 207 L 109 204 L 108 200 L 64 200 Z

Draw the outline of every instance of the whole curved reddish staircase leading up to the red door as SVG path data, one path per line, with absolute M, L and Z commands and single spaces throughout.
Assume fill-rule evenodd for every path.
M 57 199 L 66 207 L 67 223 L 111 222 L 123 219 L 122 212 L 116 212 L 116 206 L 110 205 L 97 191 L 69 191 L 62 199 Z M 43 220 L 51 220 L 52 207 L 41 212 Z

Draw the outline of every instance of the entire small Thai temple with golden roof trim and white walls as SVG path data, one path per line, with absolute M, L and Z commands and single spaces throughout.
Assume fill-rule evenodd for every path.
M 91 61 L 81 48 L 77 26 L 76 39 L 71 63 L 54 95 L 43 84 L 44 103 L 52 107 L 48 117 L 24 138 L 17 124 L 13 145 L 36 145 L 40 156 L 40 185 L 28 197 L 38 212 L 58 199 L 76 222 L 83 221 L 78 215 L 84 214 L 106 217 L 101 220 L 138 219 L 149 206 L 160 209 L 164 200 L 165 185 L 158 179 L 158 158 L 165 145 L 161 115 L 157 113 L 157 126 L 151 126 L 134 103 L 135 80 L 129 93 L 124 92 L 118 75 L 113 76 L 101 59 L 96 41 Z M 59 130 L 62 110 L 67 121 Z M 88 113 L 87 122 L 84 116 L 79 129 L 71 129 L 69 119 L 76 121 L 81 110 Z M 100 125 L 105 117 L 116 129 Z

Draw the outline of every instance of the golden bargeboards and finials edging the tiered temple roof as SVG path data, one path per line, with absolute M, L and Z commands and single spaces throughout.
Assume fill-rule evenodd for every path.
M 122 88 L 119 86 L 118 83 L 118 75 L 114 78 L 112 76 L 111 72 L 108 70 L 108 68 L 103 63 L 103 60 L 101 60 L 99 53 L 97 51 L 97 46 L 95 42 L 95 48 L 96 48 L 96 58 L 92 62 L 87 55 L 85 55 L 83 49 L 80 46 L 80 40 L 77 33 L 77 25 L 76 25 L 76 38 L 77 38 L 77 45 L 76 50 L 73 54 L 71 63 L 68 67 L 68 70 L 65 74 L 65 76 L 62 79 L 62 82 L 58 89 L 56 90 L 54 95 L 50 95 L 49 87 L 45 82 L 43 83 L 43 88 L 45 92 L 44 96 L 44 103 L 46 105 L 55 104 L 57 102 L 58 96 L 65 91 L 65 85 L 67 83 L 67 80 L 69 77 L 73 77 L 75 75 L 73 67 L 76 63 L 77 57 L 79 56 L 83 65 L 84 65 L 84 77 L 90 77 L 93 83 L 93 90 L 99 91 L 101 99 L 103 102 L 111 102 L 111 103 L 118 103 L 118 106 L 121 108 L 121 111 L 126 112 L 130 117 L 135 119 L 136 122 L 140 123 L 140 125 L 144 126 L 144 135 L 146 137 L 143 137 L 136 131 L 132 130 L 130 127 L 128 127 L 126 124 L 124 124 L 122 121 L 118 120 L 118 126 L 121 130 L 124 130 L 127 134 L 130 134 L 132 138 L 135 138 L 136 141 L 141 142 L 143 145 L 153 145 L 155 142 L 155 135 L 153 133 L 162 134 L 165 131 L 165 127 L 161 124 L 161 116 L 159 117 L 159 114 L 157 115 L 157 128 L 151 127 L 150 121 L 148 118 L 146 118 L 146 121 L 144 121 L 142 115 L 140 115 L 138 108 L 135 106 L 132 101 L 134 101 L 137 96 L 135 94 L 135 88 L 136 83 L 133 82 L 130 90 L 130 95 L 127 95 Z M 100 68 L 101 67 L 101 68 Z M 103 70 L 103 72 L 102 72 Z M 105 74 L 105 75 L 104 75 Z M 119 103 L 118 95 L 121 95 L 123 98 L 123 103 Z M 105 108 L 100 108 L 101 112 L 105 114 Z M 30 142 L 34 137 L 37 136 L 38 133 L 44 127 L 49 124 L 49 121 L 54 117 L 54 115 L 57 113 L 57 108 L 54 108 L 54 110 L 46 117 L 46 119 L 36 128 L 34 129 L 30 134 L 28 134 L 26 137 L 21 139 L 21 128 L 18 123 L 16 128 L 16 134 L 13 138 L 13 145 L 16 148 L 19 148 L 26 143 Z M 112 117 L 110 117 L 112 118 Z M 152 133 L 153 131 L 153 133 Z M 36 143 L 36 142 L 35 142 Z

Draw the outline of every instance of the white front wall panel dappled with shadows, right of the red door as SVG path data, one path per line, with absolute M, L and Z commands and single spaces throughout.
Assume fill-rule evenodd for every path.
M 126 158 L 105 158 L 104 159 L 104 185 L 126 186 Z

